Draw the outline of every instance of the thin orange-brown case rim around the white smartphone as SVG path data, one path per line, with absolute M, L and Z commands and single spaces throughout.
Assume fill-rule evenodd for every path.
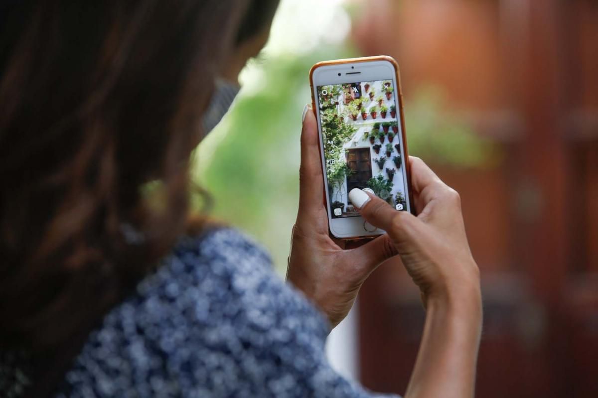
M 407 151 L 407 137 L 405 136 L 405 117 L 403 115 L 403 93 L 401 90 L 401 74 L 399 72 L 399 64 L 396 62 L 396 60 L 393 57 L 389 57 L 389 56 L 374 56 L 374 57 L 361 57 L 361 58 L 347 58 L 347 59 L 337 59 L 337 60 L 331 60 L 331 61 L 322 61 L 322 62 L 318 62 L 316 63 L 316 65 L 312 66 L 312 69 L 310 69 L 309 71 L 309 85 L 310 88 L 312 89 L 312 110 L 313 110 L 313 114 L 316 116 L 316 118 L 318 117 L 318 115 L 316 115 L 316 99 L 313 95 L 313 72 L 320 68 L 321 66 L 329 66 L 329 65 L 342 65 L 344 63 L 362 63 L 362 62 L 371 62 L 371 61 L 388 61 L 390 63 L 392 63 L 392 66 L 394 66 L 395 68 L 395 74 L 396 74 L 396 84 L 398 85 L 398 100 L 399 100 L 399 115 L 401 115 L 401 136 L 402 136 L 402 144 L 403 144 L 403 150 L 405 151 L 405 157 L 406 157 L 406 161 L 405 161 L 405 174 L 407 174 L 407 189 L 408 189 L 408 197 L 409 197 L 409 206 L 411 209 L 411 213 L 413 215 L 415 215 L 415 208 L 413 206 L 413 193 L 412 193 L 412 189 L 411 189 L 411 167 L 409 164 L 409 153 Z M 319 145 L 322 145 L 320 141 L 320 134 L 318 134 L 318 143 Z M 322 156 L 322 154 L 320 154 L 320 156 Z M 322 161 L 320 161 L 320 164 L 322 164 Z M 324 170 L 322 170 L 322 173 L 324 173 Z M 324 196 L 322 197 L 322 199 L 324 200 L 324 206 L 326 207 L 326 212 L 329 212 L 330 209 L 328 208 L 328 203 L 326 200 L 326 187 L 324 187 Z M 328 234 L 331 237 L 336 238 L 333 234 L 332 231 L 330 231 L 330 226 L 328 225 Z M 342 238 L 343 240 L 356 240 L 356 239 L 373 239 L 376 238 L 375 236 L 356 236 L 356 237 L 350 237 L 350 238 Z

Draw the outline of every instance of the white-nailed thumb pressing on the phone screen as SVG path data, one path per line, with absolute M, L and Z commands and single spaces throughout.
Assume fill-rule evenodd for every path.
M 359 210 L 359 214 L 377 228 L 384 229 L 396 243 L 411 241 L 417 218 L 409 212 L 399 212 L 388 203 L 359 188 L 349 192 L 349 200 Z

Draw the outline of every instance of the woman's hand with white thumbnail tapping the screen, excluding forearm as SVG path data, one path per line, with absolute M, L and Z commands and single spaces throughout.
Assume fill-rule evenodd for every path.
M 410 166 L 417 217 L 358 188 L 349 192 L 349 200 L 371 225 L 388 233 L 424 306 L 431 300 L 480 300 L 480 273 L 469 250 L 459 194 L 421 159 L 410 157 Z

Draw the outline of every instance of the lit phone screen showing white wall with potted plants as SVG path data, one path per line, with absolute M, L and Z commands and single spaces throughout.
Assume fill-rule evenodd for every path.
M 396 210 L 407 210 L 402 134 L 392 80 L 318 86 L 332 218 L 357 217 L 353 188 L 370 188 Z

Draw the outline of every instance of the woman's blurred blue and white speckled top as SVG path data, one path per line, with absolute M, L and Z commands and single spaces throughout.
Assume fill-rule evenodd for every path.
M 92 332 L 57 397 L 373 397 L 325 356 L 329 324 L 233 229 L 184 238 Z

